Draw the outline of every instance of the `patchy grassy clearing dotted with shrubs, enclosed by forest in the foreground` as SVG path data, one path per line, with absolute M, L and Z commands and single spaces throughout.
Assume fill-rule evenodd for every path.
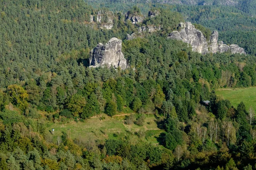
M 101 120 L 102 117 L 105 117 L 105 119 Z M 137 140 L 146 140 L 152 144 L 157 144 L 156 136 L 159 136 L 164 130 L 160 130 L 157 127 L 154 115 L 151 114 L 145 117 L 144 125 L 138 126 L 135 124 L 125 125 L 125 115 L 111 118 L 101 114 L 87 119 L 85 122 L 75 122 L 73 120 L 64 124 L 49 122 L 47 130 L 55 129 L 54 138 L 61 136 L 63 133 L 67 133 L 72 139 L 83 140 L 104 140 L 115 139 L 116 136 L 119 138 L 129 136 L 135 142 Z M 137 133 L 139 132 L 143 134 L 142 138 L 138 137 Z

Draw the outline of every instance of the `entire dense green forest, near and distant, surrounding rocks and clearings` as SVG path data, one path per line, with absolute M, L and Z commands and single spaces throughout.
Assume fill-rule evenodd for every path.
M 139 3 L 139 8 L 122 4 L 130 13 L 160 11 L 132 24 L 125 22 L 122 10 L 93 4 L 0 1 L 0 169 L 256 169 L 253 109 L 247 110 L 244 102 L 235 108 L 214 91 L 256 85 L 255 17 L 230 6 L 145 4 L 140 9 Z M 112 29 L 91 22 L 97 7 L 113 11 Z M 166 39 L 184 20 L 207 26 L 207 32 L 218 28 L 220 39 L 241 45 L 248 54 L 202 55 L 186 43 Z M 126 40 L 148 25 L 161 29 Z M 89 68 L 90 50 L 112 37 L 123 40 L 129 68 Z M 135 114 L 125 124 L 141 126 L 145 116 L 155 114 L 163 130 L 159 145 L 118 135 L 92 143 L 67 133 L 52 139 L 46 130 L 47 122 L 85 122 L 128 110 Z

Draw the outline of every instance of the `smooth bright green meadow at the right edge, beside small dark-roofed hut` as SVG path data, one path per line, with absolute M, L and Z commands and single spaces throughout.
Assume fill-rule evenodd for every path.
M 234 107 L 237 107 L 240 102 L 244 102 L 246 108 L 252 106 L 256 111 L 256 88 L 223 88 L 215 92 L 217 96 L 230 100 Z

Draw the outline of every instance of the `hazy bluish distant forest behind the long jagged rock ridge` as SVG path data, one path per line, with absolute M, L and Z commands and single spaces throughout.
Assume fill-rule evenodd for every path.
M 98 8 L 108 7 L 112 11 L 126 12 L 132 6 L 138 6 L 143 14 L 147 14 L 152 7 L 167 8 L 182 14 L 186 21 L 201 24 L 211 31 L 218 30 L 219 39 L 226 44 L 238 44 L 247 53 L 256 55 L 256 0 L 234 0 L 236 5 L 225 6 L 226 0 L 182 0 L 180 3 L 156 3 L 156 2 L 180 2 L 178 0 L 154 1 L 138 0 L 85 0 Z M 123 5 L 125 3 L 125 5 Z M 202 5 L 203 3 L 212 5 Z M 175 4 L 175 5 L 174 5 Z M 251 37 L 248 39 L 248 37 Z

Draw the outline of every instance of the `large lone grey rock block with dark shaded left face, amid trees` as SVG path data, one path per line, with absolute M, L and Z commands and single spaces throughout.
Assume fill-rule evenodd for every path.
M 111 38 L 107 44 L 99 43 L 90 51 L 90 67 L 106 66 L 114 68 L 127 67 L 126 59 L 122 53 L 122 40 Z

